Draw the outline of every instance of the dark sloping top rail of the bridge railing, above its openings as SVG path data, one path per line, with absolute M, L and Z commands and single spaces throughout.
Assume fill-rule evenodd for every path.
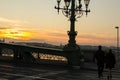
M 0 48 L 8 48 L 12 50 L 19 50 L 19 51 L 28 51 L 28 52 L 36 52 L 36 53 L 45 53 L 51 55 L 59 55 L 63 56 L 64 51 L 62 49 L 54 49 L 54 48 L 46 48 L 46 47 L 36 47 L 30 45 L 18 45 L 14 43 L 0 43 Z

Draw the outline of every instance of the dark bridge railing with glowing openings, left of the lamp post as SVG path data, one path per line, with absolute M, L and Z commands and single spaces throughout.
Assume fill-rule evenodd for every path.
M 37 62 L 37 63 L 65 63 L 67 58 L 61 49 L 0 43 L 1 59 Z

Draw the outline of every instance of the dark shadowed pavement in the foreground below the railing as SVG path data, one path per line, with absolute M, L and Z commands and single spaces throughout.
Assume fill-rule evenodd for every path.
M 0 62 L 0 80 L 107 80 L 107 71 L 99 79 L 95 69 L 68 69 L 59 66 L 21 65 Z M 120 72 L 113 71 L 113 79 L 120 80 Z

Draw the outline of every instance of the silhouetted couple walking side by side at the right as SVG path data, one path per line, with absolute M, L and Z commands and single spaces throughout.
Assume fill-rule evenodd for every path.
M 98 66 L 98 77 L 103 76 L 103 70 L 104 70 L 104 64 L 106 65 L 106 68 L 108 69 L 108 78 L 112 77 L 111 69 L 115 66 L 115 56 L 112 53 L 112 50 L 110 49 L 107 54 L 102 50 L 102 46 L 98 46 L 98 50 L 96 51 L 94 55 L 94 61 L 97 61 Z

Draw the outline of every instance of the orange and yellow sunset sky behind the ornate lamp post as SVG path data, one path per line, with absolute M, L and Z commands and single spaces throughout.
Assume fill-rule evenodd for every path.
M 119 4 L 120 0 L 90 0 L 91 12 L 88 16 L 83 13 L 75 23 L 76 43 L 116 46 Z M 0 39 L 67 44 L 70 21 L 62 11 L 57 13 L 55 5 L 56 0 L 0 0 Z

